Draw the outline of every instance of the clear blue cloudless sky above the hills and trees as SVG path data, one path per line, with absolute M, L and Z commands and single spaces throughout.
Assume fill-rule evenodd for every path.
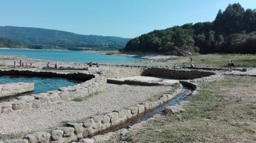
M 132 38 L 213 21 L 219 9 L 237 2 L 245 9 L 256 8 L 256 0 L 0 0 L 0 26 Z

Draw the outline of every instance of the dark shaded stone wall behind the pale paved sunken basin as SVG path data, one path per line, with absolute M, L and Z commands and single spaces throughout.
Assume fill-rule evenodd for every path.
M 158 76 L 171 79 L 191 80 L 202 78 L 210 75 L 215 75 L 213 72 L 199 70 L 184 70 L 184 69 L 168 69 L 168 68 L 147 68 L 141 73 L 142 76 Z

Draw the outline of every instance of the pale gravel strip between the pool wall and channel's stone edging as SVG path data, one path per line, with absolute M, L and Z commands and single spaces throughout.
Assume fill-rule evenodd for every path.
M 105 93 L 95 95 L 85 101 L 69 101 L 39 109 L 0 114 L 0 134 L 46 130 L 59 126 L 62 121 L 75 121 L 97 113 L 136 105 L 170 88 L 108 84 Z

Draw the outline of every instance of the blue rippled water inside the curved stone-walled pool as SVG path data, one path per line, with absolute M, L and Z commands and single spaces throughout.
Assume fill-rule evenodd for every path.
M 58 90 L 60 87 L 73 86 L 81 81 L 74 81 L 65 78 L 46 78 L 30 76 L 0 76 L 0 84 L 14 82 L 34 82 L 34 93 L 45 93 L 50 90 Z

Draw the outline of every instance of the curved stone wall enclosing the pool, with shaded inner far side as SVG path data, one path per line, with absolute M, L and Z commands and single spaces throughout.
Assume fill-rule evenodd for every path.
M 104 91 L 106 89 L 107 78 L 99 75 L 87 75 L 83 73 L 65 74 L 65 73 L 53 73 L 53 72 L 36 72 L 36 71 L 20 71 L 8 70 L 0 71 L 1 75 L 28 75 L 31 73 L 36 76 L 50 76 L 54 77 L 66 77 L 73 79 L 90 80 L 76 84 L 74 86 L 61 87 L 59 90 L 49 91 L 47 93 L 32 94 L 28 96 L 20 96 L 9 102 L 0 103 L 0 113 L 9 113 L 18 110 L 25 110 L 31 108 L 39 108 L 46 103 L 58 103 L 62 101 L 71 100 L 78 97 L 85 97 L 91 93 Z M 45 74 L 45 75 L 44 75 Z M 60 75 L 60 76 L 58 76 Z

